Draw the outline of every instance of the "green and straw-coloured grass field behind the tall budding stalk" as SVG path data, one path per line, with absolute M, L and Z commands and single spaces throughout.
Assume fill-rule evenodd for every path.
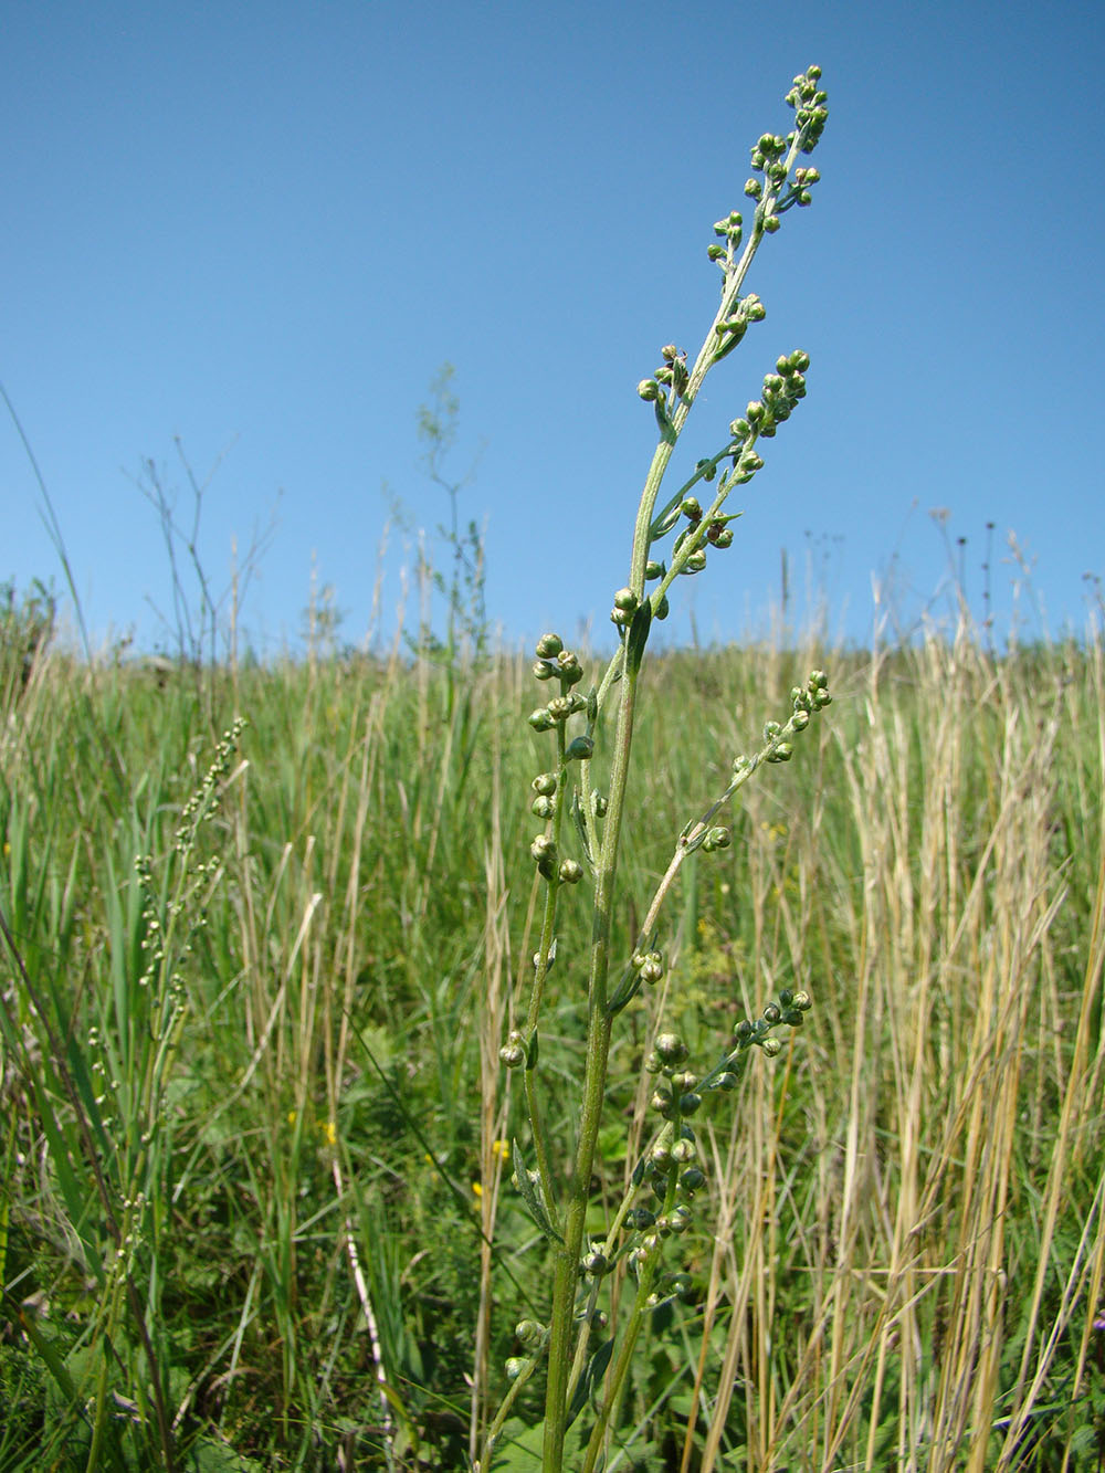
M 654 1315 L 619 1466 L 1098 1467 L 1099 644 L 657 657 L 619 943 L 681 795 L 723 787 L 813 663 L 831 711 L 684 866 L 666 984 L 614 1043 L 591 1230 L 656 1027 L 709 1053 L 782 985 L 815 1002 L 703 1122 L 718 1231 L 681 1243 L 690 1295 Z M 547 1293 L 497 1145 L 525 1130 L 498 1047 L 536 944 L 527 661 L 40 653 L 0 689 L 27 969 L 4 953 L 0 1469 L 464 1467 Z M 554 980 L 557 1139 L 585 985 Z

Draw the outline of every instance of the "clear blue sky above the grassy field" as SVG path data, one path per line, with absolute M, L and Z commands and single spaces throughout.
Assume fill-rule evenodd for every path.
M 1030 629 L 1039 608 L 1084 626 L 1084 574 L 1105 574 L 1099 3 L 7 0 L 4 32 L 0 380 L 97 641 L 171 642 L 136 480 L 153 460 L 187 513 L 177 437 L 200 479 L 218 461 L 217 591 L 276 507 L 256 647 L 296 638 L 312 560 L 357 641 L 389 498 L 430 530 L 448 510 L 415 435 L 445 361 L 491 617 L 510 642 L 608 629 L 654 443 L 635 386 L 663 343 L 697 351 L 712 224 L 810 62 L 822 183 L 765 242 L 747 286 L 768 318 L 684 443 L 719 448 L 779 352 L 810 354 L 809 398 L 762 446 L 732 549 L 681 580 L 698 635 L 763 625 L 784 546 L 791 613 L 810 586 L 852 638 L 872 574 L 909 620 L 949 545 L 981 613 L 987 521 L 999 630 L 1024 582 L 1009 532 Z M 60 592 L 6 411 L 0 504 L 0 582 Z M 392 527 L 386 623 L 404 566 Z

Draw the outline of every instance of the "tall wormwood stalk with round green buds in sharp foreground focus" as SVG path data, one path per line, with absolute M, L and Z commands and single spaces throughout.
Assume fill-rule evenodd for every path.
M 659 442 L 634 524 L 629 577 L 614 594 L 610 614 L 617 629 L 617 651 L 598 683 L 583 695 L 583 667 L 578 654 L 564 648 L 555 633 L 544 635 L 536 647 L 533 676 L 555 692 L 529 716 L 529 725 L 544 734 L 552 748 L 548 770 L 533 779 L 532 801 L 535 816 L 544 822 L 530 846 L 544 906 L 525 1021 L 510 1033 L 501 1058 L 508 1069 L 522 1071 L 529 1145 L 513 1142 L 513 1180 L 550 1243 L 552 1298 L 548 1324 L 523 1320 L 517 1326 L 523 1354 L 507 1364 L 513 1385 L 486 1436 L 479 1460 L 483 1473 L 492 1467 L 497 1444 L 505 1451 L 507 1417 L 542 1363 L 547 1365 L 541 1435 L 544 1473 L 560 1473 L 567 1429 L 588 1401 L 594 1407 L 594 1423 L 589 1435 L 580 1438 L 579 1461 L 573 1454 L 572 1466 L 591 1473 L 603 1463 L 619 1423 L 641 1330 L 657 1307 L 678 1298 L 688 1283 L 678 1268 L 667 1268 L 667 1251 L 691 1227 L 692 1200 L 706 1181 L 694 1117 L 704 1096 L 737 1086 L 753 1049 L 768 1056 L 779 1053 L 782 1044 L 775 1030 L 781 1025 L 797 1028 L 810 1006 L 807 993 L 781 990 L 759 1018 L 740 1024 L 720 1056 L 704 1068 L 688 1058 L 688 1047 L 678 1034 L 662 1031 L 654 1037 L 645 1059 L 645 1069 L 656 1080 L 650 1100 L 656 1121 L 651 1142 L 606 1231 L 588 1237 L 591 1173 L 607 1090 L 611 1031 L 641 988 L 656 985 L 664 975 L 664 957 L 657 944 L 663 901 L 690 854 L 728 847 L 729 831 L 715 823 L 722 807 L 760 766 L 787 762 L 794 736 L 829 703 L 828 681 L 821 670 L 791 691 L 785 722 L 766 723 L 754 753 L 738 756 L 732 763 L 725 791 L 679 834 L 635 944 L 628 947 L 628 956 L 617 955 L 619 850 L 653 620 L 666 617 L 669 594 L 679 577 L 701 573 L 707 560 L 732 544 L 729 523 L 734 514 L 725 510 L 729 493 L 748 485 L 762 468 L 759 442 L 771 439 L 804 398 L 809 356 L 797 351 L 779 358 L 766 374 L 760 396 L 731 423 L 722 446 L 700 460 L 690 479 L 663 501 L 662 486 L 707 373 L 737 348 L 753 323 L 766 315 L 760 299 L 744 292 L 763 237 L 779 228 L 781 217 L 793 206 L 810 203 L 818 171 L 800 159 L 816 147 L 828 116 L 819 78 L 818 66 L 794 78 L 787 93 L 787 103 L 796 113 L 794 128 L 785 137 L 765 133 L 751 150 L 753 172 L 744 186 L 753 202 L 747 237 L 746 222 L 737 211 L 715 225 L 718 240 L 709 247 L 709 256 L 722 273 L 722 299 L 698 355 L 688 362 L 687 354 L 670 343 L 662 349 L 662 367 L 638 384 L 641 399 L 653 405 Z M 603 781 L 597 767 L 604 756 L 608 770 Z M 575 848 L 578 857 L 569 854 L 569 848 Z M 558 962 L 561 975 L 566 971 L 566 959 L 557 957 L 561 900 L 583 881 L 592 906 L 586 1055 L 573 1159 L 561 1180 L 547 1128 L 541 1021 L 554 963 Z M 634 1282 L 632 1290 L 604 1298 L 604 1284 L 622 1284 L 626 1271 Z M 613 1324 L 614 1299 L 620 1330 Z M 536 1455 L 535 1441 L 520 1441 Z

